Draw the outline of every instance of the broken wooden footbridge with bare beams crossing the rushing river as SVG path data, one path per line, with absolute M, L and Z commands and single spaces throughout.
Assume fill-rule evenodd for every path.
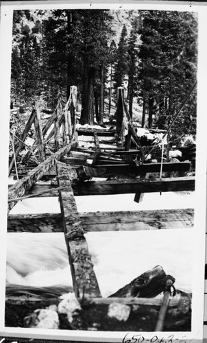
M 172 285 L 174 279 L 167 276 L 161 266 L 138 276 L 123 291 L 125 295 L 122 294 L 121 298 L 119 295 L 102 298 L 84 234 L 101 230 L 192 228 L 194 210 L 78 213 L 75 203 L 75 196 L 134 193 L 134 201 L 139 202 L 143 193 L 193 191 L 195 178 L 178 176 L 188 171 L 191 163 L 145 163 L 145 147 L 141 145 L 127 113 L 121 88 L 115 127 L 77 128 L 75 106 L 76 88 L 73 86 L 65 108 L 61 110 L 57 107 L 45 126 L 42 126 L 38 109 L 32 110 L 10 158 L 9 172 L 16 174 L 19 180 L 8 190 L 8 232 L 48 232 L 47 226 L 50 232 L 64 232 L 73 290 L 80 307 L 72 315 L 72 320 L 65 320 L 66 314 L 62 318 L 61 312 L 58 312 L 60 298 L 40 301 L 33 296 L 19 298 L 10 295 L 6 296 L 5 318 L 11 318 L 12 313 L 12 325 L 23 327 L 25 318 L 33 316 L 33 311 L 48 309 L 53 304 L 58 306 L 60 329 L 191 330 L 191 296 L 179 292 L 177 297 L 170 298 L 171 287 L 167 288 L 166 283 L 170 280 Z M 27 147 L 27 153 L 19 162 L 19 152 L 25 147 L 32 123 L 36 139 L 34 145 Z M 162 178 L 160 169 L 162 173 L 174 172 L 176 176 Z M 39 180 L 51 180 L 51 184 L 39 183 Z M 59 197 L 60 214 L 10 214 L 18 201 L 48 196 Z M 136 296 L 132 292 L 134 287 Z M 146 287 L 147 292 L 143 292 Z M 167 306 L 163 305 L 162 299 L 149 296 L 160 292 L 165 292 Z M 163 306 L 166 307 L 166 316 L 160 314 L 163 312 L 160 307 L 162 309 Z M 15 324 L 16 313 L 18 324 Z M 31 320 L 29 322 L 31 327 Z M 10 324 L 11 320 L 7 322 L 6 319 L 6 325 Z

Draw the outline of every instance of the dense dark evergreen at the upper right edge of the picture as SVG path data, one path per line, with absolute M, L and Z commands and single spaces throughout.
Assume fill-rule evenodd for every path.
M 167 128 L 188 93 L 197 71 L 197 18 L 189 12 L 147 11 L 142 14 L 140 29 L 142 45 L 139 58 L 141 97 L 148 108 L 148 126 L 153 117 L 159 128 Z M 196 102 L 191 112 L 184 114 L 194 118 L 185 130 L 195 133 Z

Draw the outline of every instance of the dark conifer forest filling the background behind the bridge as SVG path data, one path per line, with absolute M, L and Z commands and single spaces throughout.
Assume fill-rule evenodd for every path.
M 179 146 L 185 135 L 195 139 L 196 75 L 195 13 L 14 11 L 11 107 L 17 112 L 10 125 L 17 136 L 25 125 L 21 113 L 34 104 L 63 107 L 73 85 L 80 123 L 103 125 L 105 117 L 113 119 L 117 87 L 123 86 L 140 127 L 167 130 L 182 109 L 171 130 L 172 144 Z

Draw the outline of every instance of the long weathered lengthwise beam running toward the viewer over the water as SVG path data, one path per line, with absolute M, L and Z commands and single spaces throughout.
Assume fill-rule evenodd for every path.
M 80 215 L 77 213 L 70 181 L 70 170 L 66 165 L 57 163 L 57 172 L 59 186 L 67 189 L 60 191 L 60 209 L 75 295 L 77 297 L 101 296 Z

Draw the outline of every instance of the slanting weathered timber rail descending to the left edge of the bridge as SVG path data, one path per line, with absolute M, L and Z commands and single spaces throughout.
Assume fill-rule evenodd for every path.
M 8 192 L 8 199 L 12 200 L 14 198 L 21 198 L 25 194 L 25 192 L 28 191 L 35 184 L 36 181 L 42 178 L 45 172 L 48 171 L 55 164 L 56 161 L 60 160 L 60 158 L 62 158 L 64 154 L 67 154 L 71 150 L 71 148 L 75 146 L 76 143 L 62 147 L 62 149 L 51 155 L 49 158 L 47 158 L 47 160 L 42 162 L 36 168 L 32 169 L 32 171 L 29 171 L 25 178 L 19 180 L 19 182 L 16 182 L 12 187 L 10 187 Z M 15 204 L 16 202 L 10 202 L 8 204 L 8 211 L 10 211 L 10 209 L 12 209 Z

